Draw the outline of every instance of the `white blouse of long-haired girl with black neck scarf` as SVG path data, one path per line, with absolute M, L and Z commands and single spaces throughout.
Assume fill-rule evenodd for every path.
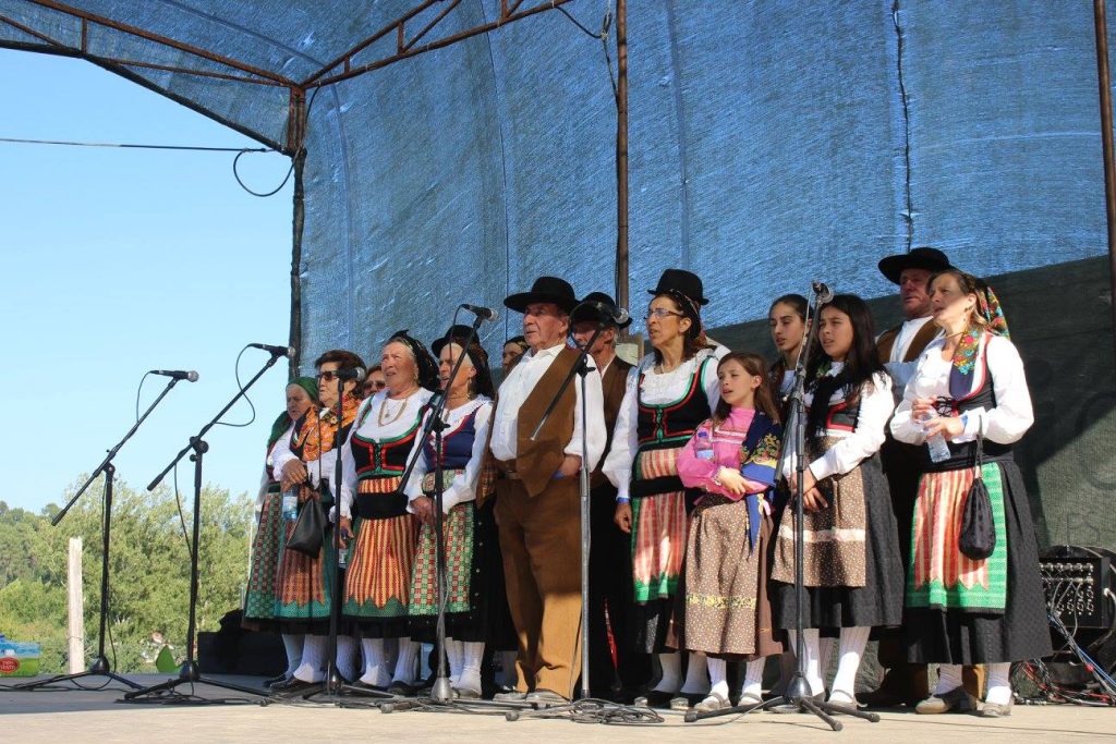
M 844 368 L 843 363 L 835 363 L 828 371 L 829 376 L 835 376 Z M 829 399 L 828 405 L 838 403 L 844 397 L 840 393 Z M 814 405 L 814 395 L 807 390 L 804 396 L 806 407 Z M 856 418 L 856 428 L 852 432 L 840 429 L 828 429 L 827 436 L 839 438 L 840 441 L 829 447 L 825 454 L 811 462 L 808 467 L 818 481 L 830 475 L 845 475 L 853 472 L 857 465 L 876 454 L 884 444 L 887 419 L 895 410 L 895 400 L 892 398 L 892 378 L 886 373 L 876 373 L 872 380 L 860 386 L 860 410 Z M 809 416 L 807 416 L 807 419 Z M 807 436 L 810 436 L 807 432 Z M 793 451 L 793 437 L 788 439 L 787 450 Z M 783 475 L 790 476 L 795 472 L 793 456 L 787 456 L 783 461 Z

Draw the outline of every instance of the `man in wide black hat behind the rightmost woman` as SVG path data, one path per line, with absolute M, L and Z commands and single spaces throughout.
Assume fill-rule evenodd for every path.
M 893 390 L 902 399 L 903 389 L 918 366 L 918 357 L 934 340 L 941 329 L 933 322 L 927 282 L 939 271 L 950 269 L 950 260 L 942 251 L 921 247 L 907 253 L 888 255 L 879 262 L 879 271 L 889 281 L 898 284 L 899 302 L 904 321 L 881 334 L 876 341 L 879 360 L 892 376 Z M 899 552 L 903 566 L 911 566 L 911 523 L 914 519 L 914 502 L 918 496 L 918 479 L 922 473 L 923 453 L 921 446 L 887 439 L 879 451 L 884 474 L 892 493 L 892 508 L 899 530 Z M 879 642 L 879 663 L 888 668 L 879 688 L 860 696 L 868 705 L 915 705 L 930 697 L 926 666 L 907 664 L 902 646 L 902 634 L 885 635 Z M 965 689 L 975 697 L 981 696 L 981 667 L 965 667 Z

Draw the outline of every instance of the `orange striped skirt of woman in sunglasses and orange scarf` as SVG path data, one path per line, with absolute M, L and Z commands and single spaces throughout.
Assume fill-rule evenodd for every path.
M 305 501 L 321 496 L 317 490 L 304 485 L 300 497 Z M 333 568 L 337 560 L 337 550 L 333 545 L 331 534 L 326 535 L 321 551 L 316 558 L 297 550 L 288 550 L 287 540 L 294 531 L 295 521 L 285 520 L 279 545 L 279 568 L 276 574 L 276 619 L 282 632 L 324 636 L 329 632 Z

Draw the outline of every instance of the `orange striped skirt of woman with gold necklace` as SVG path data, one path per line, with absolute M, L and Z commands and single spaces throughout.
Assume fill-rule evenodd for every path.
M 394 493 L 398 483 L 397 476 L 365 479 L 357 489 L 362 495 L 386 495 Z M 410 513 L 385 519 L 354 515 L 353 534 L 344 619 L 365 638 L 407 636 L 419 520 Z

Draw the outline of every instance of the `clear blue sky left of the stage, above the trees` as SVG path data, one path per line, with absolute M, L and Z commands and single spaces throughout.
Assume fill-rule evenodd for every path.
M 88 62 L 0 50 L 0 137 L 260 146 Z M 62 503 L 134 423 L 143 374 L 196 369 L 199 381 L 180 383 L 116 460 L 118 476 L 143 487 L 235 393 L 241 347 L 286 345 L 291 186 L 252 196 L 233 178 L 232 157 L 0 143 L 0 500 Z M 289 165 L 246 155 L 240 173 L 270 191 Z M 267 359 L 246 352 L 241 379 Z M 256 422 L 209 434 L 208 483 L 254 493 L 286 378 L 280 360 L 251 392 Z M 142 407 L 165 381 L 147 379 Z M 250 417 L 241 404 L 227 419 Z M 184 491 L 191 467 L 180 465 Z M 85 497 L 99 496 L 98 485 Z

